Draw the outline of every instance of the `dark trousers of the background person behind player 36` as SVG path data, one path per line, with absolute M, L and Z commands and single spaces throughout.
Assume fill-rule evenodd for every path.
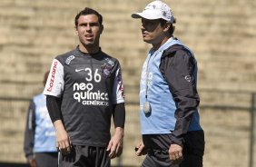
M 34 155 L 37 167 L 58 166 L 58 152 L 35 152 Z

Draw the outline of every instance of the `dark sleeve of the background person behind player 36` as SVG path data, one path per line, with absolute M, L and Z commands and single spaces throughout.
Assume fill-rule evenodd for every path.
M 29 103 L 26 125 L 25 125 L 25 140 L 24 152 L 26 159 L 32 159 L 34 156 L 34 129 L 35 129 L 35 105 L 32 100 Z

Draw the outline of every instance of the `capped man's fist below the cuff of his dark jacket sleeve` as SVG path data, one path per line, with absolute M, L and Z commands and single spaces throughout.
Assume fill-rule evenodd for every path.
M 171 144 L 170 148 L 169 148 L 169 157 L 171 162 L 173 163 L 180 163 L 182 162 L 182 146 L 178 145 L 178 144 Z

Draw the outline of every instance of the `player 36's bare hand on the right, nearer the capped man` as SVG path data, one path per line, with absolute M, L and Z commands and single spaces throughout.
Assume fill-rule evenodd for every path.
M 107 152 L 109 152 L 109 157 L 111 159 L 118 157 L 123 152 L 123 128 L 115 128 L 112 139 L 108 143 Z

